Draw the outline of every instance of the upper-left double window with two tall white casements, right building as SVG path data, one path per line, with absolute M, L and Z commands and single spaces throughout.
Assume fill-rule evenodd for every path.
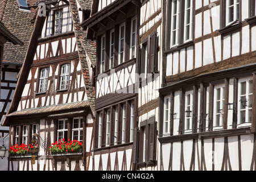
M 170 47 L 172 48 L 189 42 L 193 38 L 193 0 L 170 0 L 169 2 Z

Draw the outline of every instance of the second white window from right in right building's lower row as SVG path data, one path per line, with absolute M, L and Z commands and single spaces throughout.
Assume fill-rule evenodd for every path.
M 213 127 L 223 126 L 225 105 L 225 86 L 217 85 L 214 88 L 214 118 Z

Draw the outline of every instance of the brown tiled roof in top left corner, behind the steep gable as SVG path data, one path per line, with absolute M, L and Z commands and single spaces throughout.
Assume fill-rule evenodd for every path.
M 27 2 L 34 3 L 35 0 Z M 1 22 L 11 34 L 24 43 L 23 46 L 14 46 L 13 43 L 7 42 L 3 51 L 3 63 L 22 64 L 34 29 L 34 23 L 31 22 L 34 10 L 19 10 L 15 0 L 0 0 L 0 5 L 2 5 L 0 9 Z

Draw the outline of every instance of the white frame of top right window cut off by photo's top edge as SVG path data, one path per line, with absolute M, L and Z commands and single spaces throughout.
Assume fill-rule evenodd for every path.
M 233 4 L 230 4 L 230 0 L 226 0 L 226 26 L 239 19 L 239 6 L 239 0 L 234 0 Z M 233 10 L 233 16 L 230 14 L 231 10 Z

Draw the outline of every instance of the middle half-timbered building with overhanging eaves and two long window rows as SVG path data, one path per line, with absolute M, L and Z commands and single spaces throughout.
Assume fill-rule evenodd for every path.
M 138 97 L 139 1 L 93 1 L 81 23 L 96 39 L 96 121 L 90 170 L 131 170 Z

